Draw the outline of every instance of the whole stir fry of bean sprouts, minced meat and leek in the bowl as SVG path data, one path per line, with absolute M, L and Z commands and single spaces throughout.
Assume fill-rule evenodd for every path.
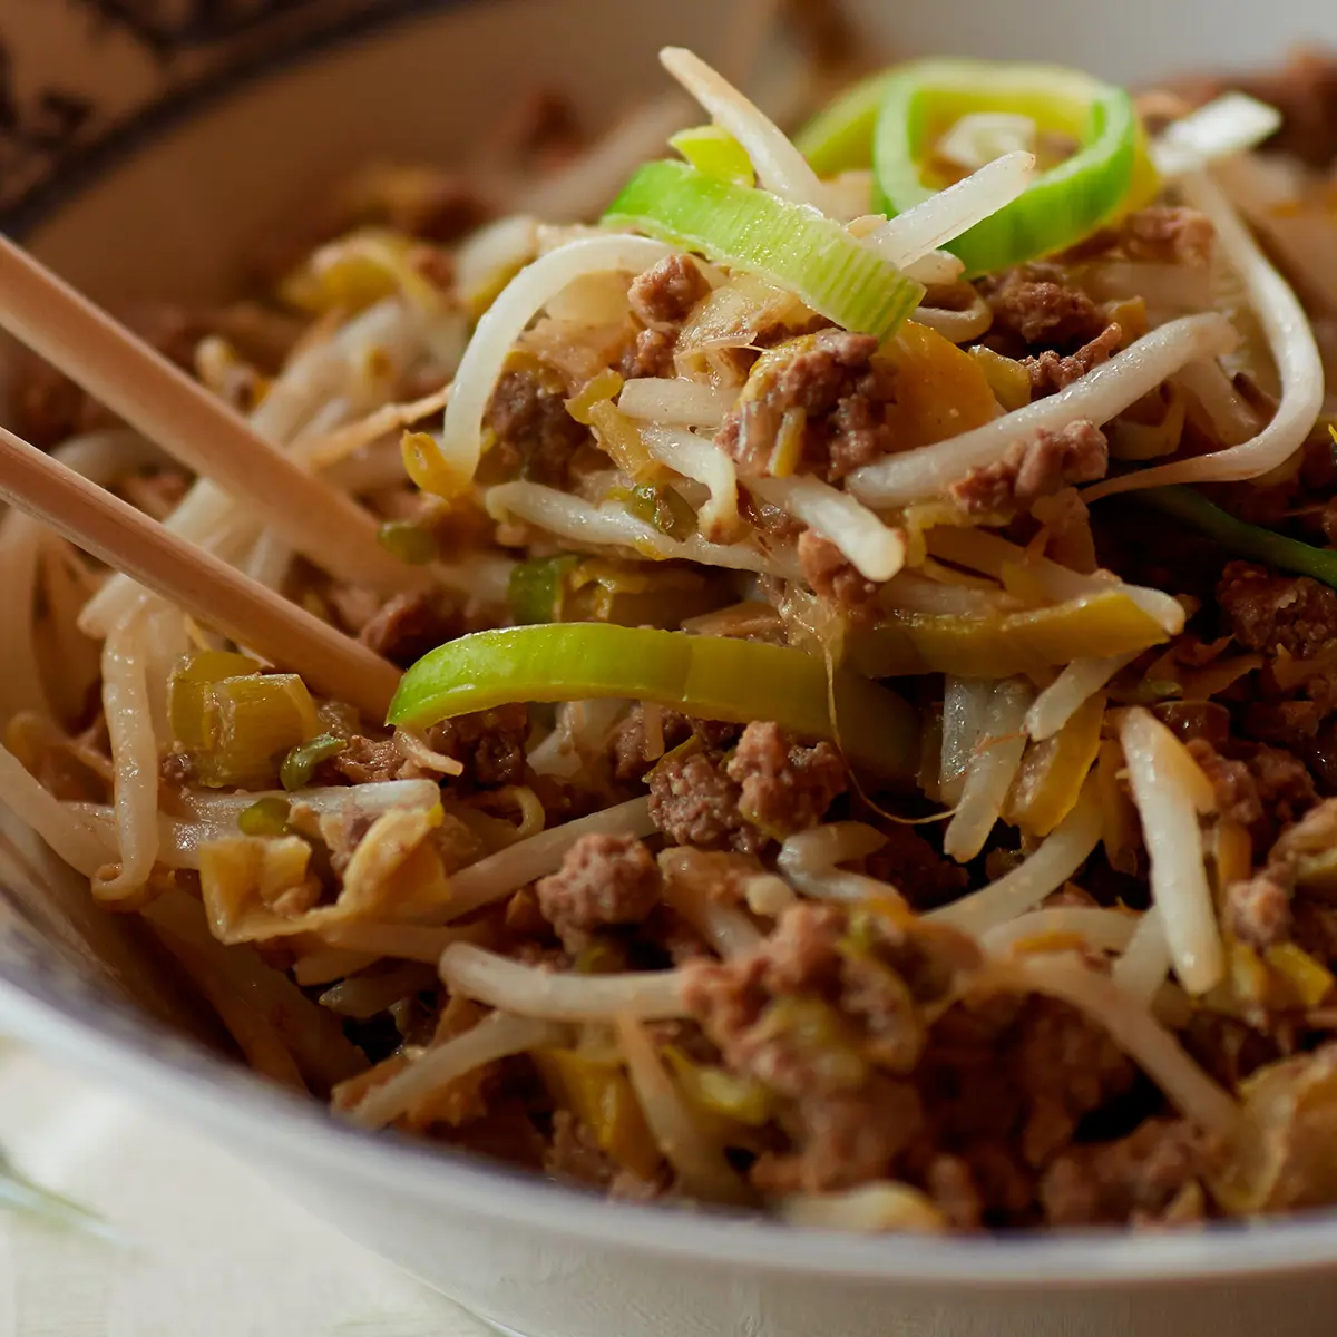
M 1337 1203 L 1333 67 L 919 60 L 790 138 L 662 60 L 135 313 L 376 515 L 365 583 L 19 369 L 402 677 L 11 513 L 5 802 L 254 1070 L 447 1154 L 865 1231 Z

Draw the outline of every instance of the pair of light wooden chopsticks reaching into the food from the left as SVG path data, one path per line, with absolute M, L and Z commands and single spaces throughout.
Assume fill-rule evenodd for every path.
M 404 567 L 377 543 L 369 512 L 4 237 L 0 328 L 317 566 L 382 591 L 404 587 Z M 385 717 L 400 677 L 393 664 L 4 428 L 0 497 L 317 691 Z

